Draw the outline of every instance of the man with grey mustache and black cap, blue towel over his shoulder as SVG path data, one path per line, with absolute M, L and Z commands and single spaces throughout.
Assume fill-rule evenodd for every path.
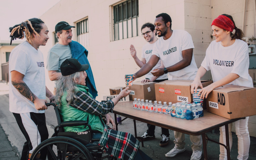
M 46 63 L 48 76 L 51 81 L 55 81 L 56 85 L 56 80 L 58 80 L 61 76 L 60 65 L 62 62 L 64 62 L 66 59 L 75 58 L 82 64 L 89 65 L 87 70 L 88 77 L 86 86 L 90 89 L 93 98 L 96 98 L 98 92 L 93 79 L 92 69 L 87 59 L 88 51 L 78 42 L 71 40 L 73 36 L 72 28 L 75 27 L 70 26 L 65 21 L 61 21 L 55 26 L 55 35 L 59 42 L 55 44 L 48 52 Z

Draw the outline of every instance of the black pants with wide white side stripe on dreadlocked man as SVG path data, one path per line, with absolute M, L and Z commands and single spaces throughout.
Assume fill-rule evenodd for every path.
M 48 136 L 49 136 L 48 130 L 46 127 L 44 113 L 30 112 L 30 113 L 25 113 L 25 114 L 27 116 L 24 116 L 24 114 L 13 113 L 13 116 L 15 117 L 15 119 L 20 127 L 21 132 L 23 133 L 23 135 L 25 136 L 25 138 L 27 140 L 24 143 L 20 160 L 28 160 L 29 151 L 36 147 L 36 146 L 32 146 L 32 144 L 38 145 L 38 144 L 40 144 L 40 139 L 42 142 L 44 140 L 47 140 Z M 24 119 L 25 117 L 26 117 L 26 119 Z M 25 128 L 27 128 L 27 130 Z M 37 130 L 38 130 L 39 134 L 37 134 Z M 33 132 L 33 135 L 35 135 L 37 137 L 31 137 L 31 132 Z M 30 135 L 30 137 L 29 137 L 29 135 Z M 40 139 L 38 139 L 38 137 L 40 137 Z M 30 139 L 33 141 L 31 141 Z M 47 156 L 47 148 L 44 148 L 43 150 L 41 150 L 40 154 L 41 154 L 40 159 L 45 160 L 46 156 Z

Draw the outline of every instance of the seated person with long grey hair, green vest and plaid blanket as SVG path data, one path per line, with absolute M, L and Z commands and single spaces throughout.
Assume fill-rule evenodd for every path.
M 132 134 L 115 131 L 115 123 L 109 112 L 112 112 L 116 103 L 131 92 L 129 87 L 125 88 L 112 100 L 99 102 L 92 98 L 88 88 L 85 86 L 87 74 L 85 70 L 88 64 L 81 65 L 78 60 L 66 59 L 60 66 L 62 76 L 56 84 L 55 101 L 60 112 L 62 122 L 87 121 L 91 125 L 92 138 L 99 141 L 86 144 L 86 147 L 100 146 L 108 155 L 124 159 L 151 159 L 140 147 L 140 142 Z M 103 123 L 102 117 L 111 122 L 113 129 Z M 63 127 L 65 132 L 77 132 L 85 134 L 88 126 Z

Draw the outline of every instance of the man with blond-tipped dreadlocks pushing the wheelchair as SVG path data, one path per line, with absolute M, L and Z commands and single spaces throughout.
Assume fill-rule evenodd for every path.
M 28 160 L 36 146 L 48 139 L 44 114 L 47 109 L 45 96 L 53 100 L 54 95 L 45 86 L 44 57 L 38 47 L 46 45 L 49 31 L 44 22 L 37 18 L 26 20 L 9 29 L 11 44 L 16 38 L 23 39 L 26 36 L 27 39 L 10 54 L 9 98 L 10 111 L 27 140 L 20 160 Z M 46 155 L 47 148 L 37 157 L 46 159 Z

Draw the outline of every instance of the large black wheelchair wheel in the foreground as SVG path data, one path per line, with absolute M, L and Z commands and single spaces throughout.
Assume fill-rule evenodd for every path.
M 79 141 L 69 137 L 52 137 L 40 143 L 32 153 L 30 160 L 41 160 L 36 155 L 48 149 L 48 160 L 93 160 L 91 152 Z

